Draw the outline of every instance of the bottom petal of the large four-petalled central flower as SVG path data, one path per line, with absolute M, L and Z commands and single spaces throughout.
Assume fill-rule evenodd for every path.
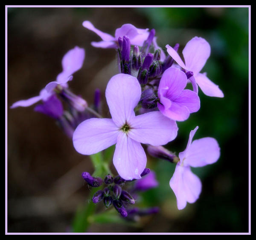
M 113 156 L 113 164 L 118 174 L 125 180 L 140 179 L 146 162 L 146 154 L 141 144 L 120 132 Z

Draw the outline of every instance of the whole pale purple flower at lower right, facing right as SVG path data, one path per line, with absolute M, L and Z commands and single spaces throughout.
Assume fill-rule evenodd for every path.
M 179 210 L 185 208 L 187 202 L 195 203 L 201 193 L 201 181 L 192 173 L 190 167 L 206 166 L 215 163 L 220 157 L 220 148 L 214 138 L 204 137 L 192 142 L 197 129 L 198 126 L 190 131 L 186 149 L 179 153 L 180 161 L 170 180 Z

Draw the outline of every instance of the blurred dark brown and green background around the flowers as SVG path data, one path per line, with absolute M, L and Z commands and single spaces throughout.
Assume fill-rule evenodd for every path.
M 154 28 L 158 45 L 186 43 L 204 37 L 211 56 L 203 71 L 224 92 L 224 98 L 199 90 L 201 109 L 178 122 L 177 138 L 168 149 L 186 147 L 195 139 L 215 137 L 221 147 L 217 163 L 192 169 L 203 185 L 194 204 L 177 210 L 169 180 L 175 165 L 148 157 L 159 186 L 142 194 L 141 206 L 159 206 L 140 224 L 93 223 L 90 232 L 248 232 L 248 7 L 244 8 L 8 8 L 8 232 L 68 232 L 78 206 L 88 202 L 90 189 L 81 178 L 93 171 L 90 158 L 75 151 L 54 120 L 34 106 L 10 109 L 27 99 L 62 71 L 61 59 L 74 46 L 85 49 L 81 70 L 70 89 L 93 103 L 108 80 L 118 73 L 116 51 L 90 45 L 100 38 L 82 26 L 84 20 L 109 34 L 125 23 Z M 202 71 L 202 72 L 203 72 Z

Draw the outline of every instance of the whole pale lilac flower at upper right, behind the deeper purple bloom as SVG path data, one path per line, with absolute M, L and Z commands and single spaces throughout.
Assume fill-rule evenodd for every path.
M 194 76 L 190 77 L 194 91 L 198 92 L 198 86 L 210 97 L 224 97 L 223 92 L 218 86 L 206 76 L 206 73 L 199 73 L 204 67 L 210 56 L 211 48 L 209 43 L 202 37 L 192 38 L 183 49 L 183 57 L 185 63 L 181 60 L 177 51 L 171 46 L 166 45 L 167 52 L 176 61 L 176 63 L 187 71 L 192 71 Z

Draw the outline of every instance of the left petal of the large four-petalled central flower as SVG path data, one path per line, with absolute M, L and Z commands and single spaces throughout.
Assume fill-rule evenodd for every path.
M 95 154 L 115 144 L 118 132 L 112 119 L 90 118 L 74 131 L 73 145 L 81 154 Z

